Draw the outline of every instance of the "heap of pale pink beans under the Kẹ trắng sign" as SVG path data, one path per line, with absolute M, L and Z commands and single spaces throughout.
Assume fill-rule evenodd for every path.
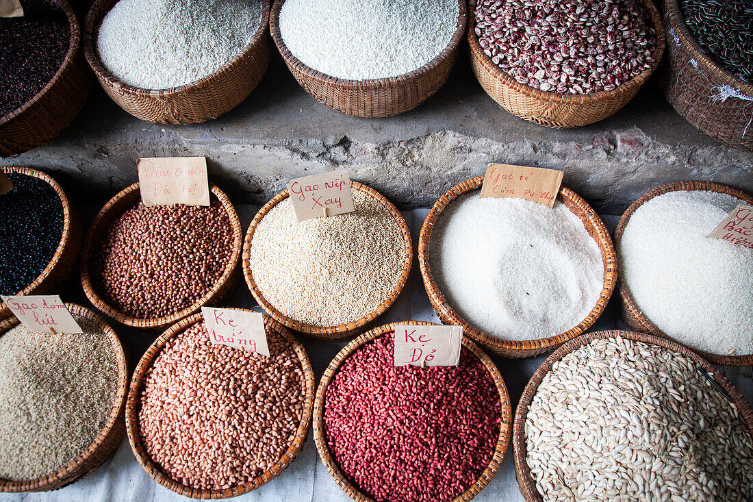
M 164 473 L 191 488 L 242 485 L 294 440 L 306 383 L 293 347 L 267 326 L 270 357 L 209 343 L 204 323 L 171 338 L 147 370 L 139 430 Z

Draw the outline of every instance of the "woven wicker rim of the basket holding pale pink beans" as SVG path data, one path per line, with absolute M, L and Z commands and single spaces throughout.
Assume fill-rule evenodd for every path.
M 234 310 L 242 311 L 245 309 Z M 151 457 L 149 457 L 149 455 L 145 451 L 144 445 L 142 445 L 141 434 L 139 433 L 139 394 L 141 393 L 142 387 L 144 386 L 144 380 L 147 370 L 154 362 L 154 359 L 157 357 L 157 355 L 160 354 L 160 350 L 162 350 L 166 342 L 170 338 L 174 338 L 176 335 L 184 332 L 185 329 L 187 329 L 189 326 L 201 322 L 202 320 L 202 315 L 196 314 L 194 316 L 181 320 L 177 324 L 174 324 L 169 329 L 167 329 L 166 332 L 160 335 L 160 337 L 157 338 L 157 340 L 155 340 L 153 344 L 151 344 L 151 346 L 144 354 L 144 357 L 142 357 L 142 359 L 139 361 L 139 364 L 136 366 L 136 370 L 133 372 L 133 378 L 131 380 L 130 390 L 128 392 L 128 400 L 126 403 L 126 427 L 128 440 L 131 444 L 133 455 L 136 455 L 136 460 L 139 461 L 141 467 L 144 468 L 149 476 L 151 476 L 165 488 L 169 488 L 170 490 L 175 491 L 175 493 L 184 495 L 185 497 L 203 499 L 235 497 L 236 495 L 244 494 L 247 491 L 252 491 L 255 488 L 259 488 L 261 485 L 264 485 L 264 483 L 270 481 L 270 479 L 278 476 L 280 473 L 282 473 L 283 470 L 288 468 L 291 462 L 295 460 L 298 453 L 300 453 L 301 448 L 303 448 L 303 443 L 306 442 L 306 436 L 309 433 L 309 424 L 311 423 L 311 415 L 314 403 L 314 392 L 316 390 L 316 377 L 314 376 L 314 370 L 311 367 L 309 356 L 308 354 L 306 354 L 306 349 L 303 347 L 303 344 L 301 344 L 300 341 L 297 341 L 294 336 L 291 335 L 284 326 L 276 322 L 276 320 L 264 316 L 264 323 L 269 326 L 277 335 L 287 341 L 288 344 L 291 344 L 298 356 L 298 359 L 300 360 L 300 365 L 303 368 L 303 375 L 306 378 L 306 399 L 303 403 L 303 416 L 296 431 L 295 439 L 293 440 L 288 450 L 285 451 L 285 454 L 282 455 L 282 458 L 280 458 L 276 464 L 262 473 L 261 476 L 258 476 L 255 479 L 252 479 L 251 481 L 245 483 L 245 485 L 238 485 L 234 486 L 233 488 L 226 488 L 224 490 L 200 490 L 183 485 L 181 482 L 178 482 L 175 479 L 169 477 L 166 473 L 163 473 L 162 470 L 160 470 L 160 467 L 157 466 L 157 464 L 154 464 L 154 462 L 151 460 Z

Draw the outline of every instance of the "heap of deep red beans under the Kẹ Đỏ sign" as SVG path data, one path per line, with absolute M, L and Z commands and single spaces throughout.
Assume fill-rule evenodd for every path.
M 325 396 L 328 448 L 377 500 L 451 500 L 494 455 L 499 393 L 465 348 L 457 368 L 396 368 L 393 347 L 388 333 L 340 366 Z

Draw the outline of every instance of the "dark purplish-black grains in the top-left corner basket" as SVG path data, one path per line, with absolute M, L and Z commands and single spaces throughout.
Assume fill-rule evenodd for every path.
M 21 0 L 23 17 L 0 17 L 0 115 L 13 112 L 52 80 L 66 59 L 71 29 L 51 0 Z

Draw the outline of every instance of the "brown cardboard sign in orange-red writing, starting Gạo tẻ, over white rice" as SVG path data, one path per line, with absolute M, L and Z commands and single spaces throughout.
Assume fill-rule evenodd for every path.
M 481 197 L 517 197 L 554 207 L 563 174 L 541 167 L 489 164 L 483 176 Z

